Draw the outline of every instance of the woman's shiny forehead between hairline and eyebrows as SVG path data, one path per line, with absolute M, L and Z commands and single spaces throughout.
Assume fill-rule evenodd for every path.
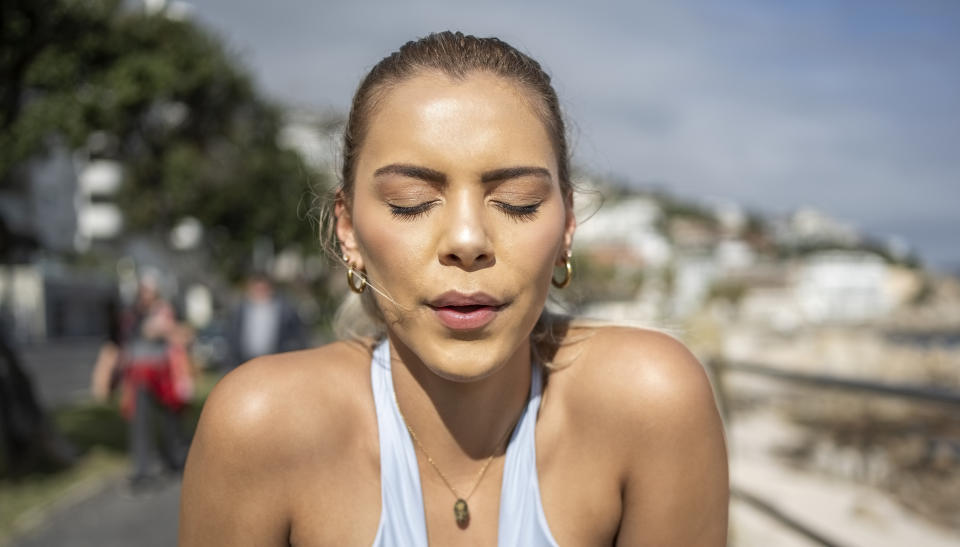
M 463 79 L 427 72 L 405 80 L 376 105 L 358 172 L 398 161 L 440 169 L 533 163 L 556 173 L 536 100 L 520 85 L 483 72 Z

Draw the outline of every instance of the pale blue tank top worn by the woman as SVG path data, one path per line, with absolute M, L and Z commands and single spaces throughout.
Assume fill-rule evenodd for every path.
M 381 342 L 373 352 L 370 376 L 380 433 L 380 524 L 375 547 L 427 546 L 427 524 L 420 490 L 417 454 L 397 408 L 390 374 L 390 345 Z M 531 367 L 530 398 L 507 444 L 500 486 L 500 547 L 556 547 L 540 501 L 534 429 L 540 409 L 542 378 Z M 452 512 L 452 511 L 451 511 Z M 450 515 L 453 518 L 453 515 Z

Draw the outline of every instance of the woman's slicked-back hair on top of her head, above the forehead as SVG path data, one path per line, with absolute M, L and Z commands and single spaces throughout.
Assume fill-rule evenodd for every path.
M 560 190 L 565 197 L 571 195 L 563 116 L 550 76 L 540 63 L 498 38 L 477 38 L 462 32 L 445 31 L 407 42 L 377 63 L 360 83 L 343 135 L 340 190 L 345 197 L 352 196 L 357 157 L 379 100 L 392 86 L 429 71 L 458 80 L 475 72 L 488 72 L 511 80 L 528 91 L 534 99 L 531 105 L 553 144 Z

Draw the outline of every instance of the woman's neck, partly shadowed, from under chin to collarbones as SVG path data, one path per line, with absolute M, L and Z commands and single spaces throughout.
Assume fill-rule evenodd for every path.
M 482 460 L 505 450 L 530 391 L 530 346 L 522 344 L 492 374 L 470 382 L 431 371 L 391 338 L 394 392 L 404 420 L 438 461 Z

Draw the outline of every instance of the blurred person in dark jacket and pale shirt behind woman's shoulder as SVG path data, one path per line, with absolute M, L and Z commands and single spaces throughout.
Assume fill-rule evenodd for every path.
M 265 274 L 247 281 L 243 301 L 227 326 L 227 347 L 228 369 L 262 355 L 307 347 L 300 316 Z

